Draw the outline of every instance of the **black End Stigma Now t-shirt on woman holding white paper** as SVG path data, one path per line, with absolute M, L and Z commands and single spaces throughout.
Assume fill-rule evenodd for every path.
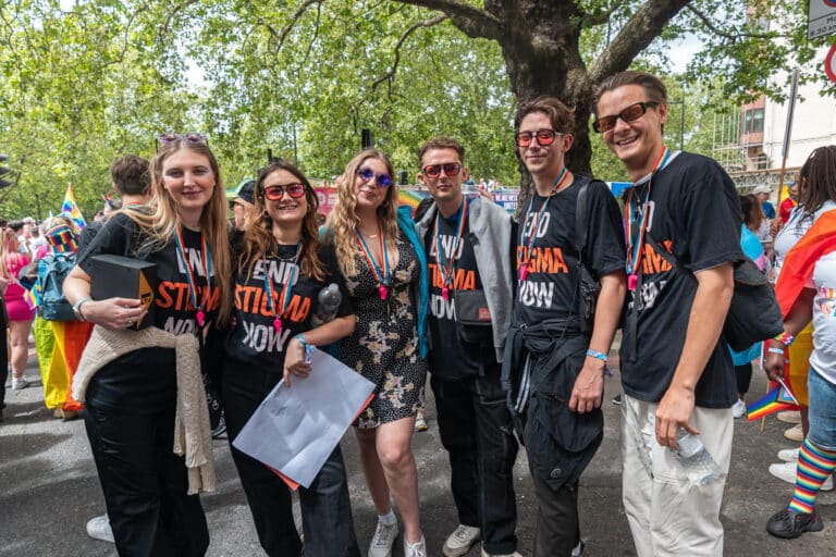
M 341 301 L 336 317 L 354 313 L 354 308 L 340 275 L 334 251 L 329 247 L 320 247 L 319 258 L 325 270 L 324 281 L 316 281 L 302 274 L 293 263 L 296 246 L 279 246 L 278 257 L 267 259 L 268 276 L 273 290 L 273 311 L 281 312 L 279 298 L 282 287 L 294 275 L 290 292 L 287 309 L 281 315 L 282 329 L 276 331 L 273 311 L 268 306 L 265 289 L 265 264 L 261 259 L 253 265 L 253 272 L 247 274 L 249 265 L 236 270 L 233 311 L 235 326 L 226 338 L 228 361 L 236 367 L 247 366 L 262 372 L 284 372 L 284 349 L 291 338 L 314 326 L 310 318 L 319 311 L 319 292 L 331 283 L 340 287 Z M 302 258 L 305 253 L 302 253 Z M 237 255 L 233 261 L 237 261 Z M 295 268 L 295 272 L 292 271 Z

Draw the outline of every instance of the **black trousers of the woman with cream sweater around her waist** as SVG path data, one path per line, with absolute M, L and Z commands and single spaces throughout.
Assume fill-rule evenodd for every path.
M 87 387 L 84 423 L 121 556 L 201 556 L 209 530 L 187 495 L 174 446 L 174 350 L 146 348 L 103 367 Z

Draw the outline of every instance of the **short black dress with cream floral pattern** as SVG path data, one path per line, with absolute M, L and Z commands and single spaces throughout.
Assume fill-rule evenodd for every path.
M 427 362 L 418 356 L 413 290 L 420 275 L 419 262 L 402 234 L 396 244 L 398 261 L 385 300 L 380 299 L 374 274 L 359 252 L 358 273 L 345 281 L 357 326 L 342 343 L 342 360 L 376 385 L 374 398 L 355 422 L 362 429 L 414 416 L 423 400 Z

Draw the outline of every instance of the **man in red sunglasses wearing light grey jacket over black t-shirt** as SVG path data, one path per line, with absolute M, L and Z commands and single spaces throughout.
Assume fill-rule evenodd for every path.
M 433 199 L 416 224 L 430 276 L 430 385 L 459 521 L 442 553 L 465 555 L 481 539 L 483 556 L 518 557 L 518 446 L 500 383 L 513 299 L 511 215 L 462 194 L 464 157 L 465 148 L 446 137 L 418 152 L 418 182 Z

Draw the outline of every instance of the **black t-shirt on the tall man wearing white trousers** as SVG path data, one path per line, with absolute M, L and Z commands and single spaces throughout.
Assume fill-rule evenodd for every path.
M 643 201 L 647 187 L 647 184 L 637 186 L 634 195 Z M 684 267 L 699 272 L 743 258 L 737 191 L 732 178 L 715 161 L 680 153 L 653 176 L 650 187 L 647 234 L 660 247 L 673 252 Z M 636 335 L 638 360 L 629 360 L 632 342 L 629 312 L 639 293 L 637 288 L 627 293 L 622 380 L 624 392 L 629 396 L 657 403 L 671 385 L 679 362 L 697 282 L 676 272 L 647 242 L 641 275 Z M 697 406 L 728 408 L 737 400 L 734 367 L 721 336 L 697 384 Z

